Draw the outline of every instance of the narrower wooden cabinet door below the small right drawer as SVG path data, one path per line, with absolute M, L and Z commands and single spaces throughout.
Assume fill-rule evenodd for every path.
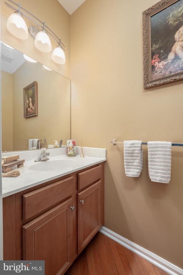
M 98 232 L 101 226 L 101 181 L 77 194 L 78 204 L 78 254 Z

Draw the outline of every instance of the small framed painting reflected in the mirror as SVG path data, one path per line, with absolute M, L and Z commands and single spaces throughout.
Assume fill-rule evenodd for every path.
M 37 115 L 37 81 L 23 88 L 23 117 Z

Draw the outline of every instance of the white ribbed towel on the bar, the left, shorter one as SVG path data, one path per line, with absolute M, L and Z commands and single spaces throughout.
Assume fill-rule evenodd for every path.
M 142 140 L 124 140 L 124 166 L 128 177 L 139 177 L 142 172 Z

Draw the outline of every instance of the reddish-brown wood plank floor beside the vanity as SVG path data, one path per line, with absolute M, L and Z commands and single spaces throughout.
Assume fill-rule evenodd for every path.
M 168 275 L 98 232 L 64 275 Z

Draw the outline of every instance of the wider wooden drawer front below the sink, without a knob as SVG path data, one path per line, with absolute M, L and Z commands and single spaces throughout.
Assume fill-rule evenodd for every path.
M 60 180 L 48 186 L 23 195 L 23 221 L 71 196 L 73 177 Z

